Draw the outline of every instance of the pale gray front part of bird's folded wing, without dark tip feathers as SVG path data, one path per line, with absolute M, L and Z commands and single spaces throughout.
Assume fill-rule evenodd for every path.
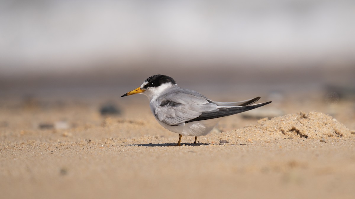
M 191 90 L 175 90 L 155 102 L 155 116 L 165 124 L 175 126 L 196 119 L 205 112 L 218 111 L 217 105 Z

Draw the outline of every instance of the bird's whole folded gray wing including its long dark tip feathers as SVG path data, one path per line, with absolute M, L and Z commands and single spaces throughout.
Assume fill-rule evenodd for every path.
M 192 121 L 233 115 L 271 103 L 246 106 L 255 103 L 258 99 L 260 97 L 241 102 L 214 102 L 196 91 L 178 88 L 160 96 L 154 101 L 153 107 L 154 114 L 160 121 L 176 126 Z

